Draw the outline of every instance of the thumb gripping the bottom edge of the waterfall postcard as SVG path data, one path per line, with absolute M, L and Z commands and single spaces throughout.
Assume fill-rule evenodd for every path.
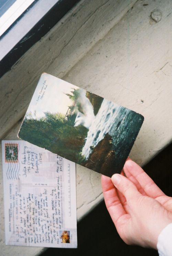
M 116 173 L 112 176 L 111 180 L 114 186 L 125 196 L 127 201 L 140 195 L 136 186 L 126 177 Z

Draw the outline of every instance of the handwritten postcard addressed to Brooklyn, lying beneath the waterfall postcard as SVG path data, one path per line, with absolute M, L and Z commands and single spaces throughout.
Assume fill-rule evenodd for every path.
M 75 163 L 26 141 L 2 141 L 7 245 L 77 247 Z

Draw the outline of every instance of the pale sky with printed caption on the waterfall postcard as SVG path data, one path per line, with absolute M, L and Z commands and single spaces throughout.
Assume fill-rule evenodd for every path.
M 38 119 L 45 116 L 44 112 L 58 112 L 65 115 L 68 106 L 73 104 L 66 95 L 66 93 L 71 94 L 71 91 L 73 91 L 72 88 L 77 89 L 78 87 L 57 77 L 43 73 L 35 89 L 27 114 L 31 112 L 32 117 Z M 36 116 L 34 115 L 35 110 Z

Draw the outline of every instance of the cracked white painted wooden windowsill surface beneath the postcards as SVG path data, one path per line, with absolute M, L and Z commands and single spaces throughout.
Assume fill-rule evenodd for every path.
M 159 22 L 150 17 L 157 9 Z M 172 140 L 171 9 L 171 0 L 81 1 L 0 79 L 0 138 L 17 138 L 16 122 L 47 72 L 143 114 L 131 157 L 148 162 Z M 78 220 L 102 198 L 100 174 L 77 165 Z M 4 238 L 1 247 L 4 255 L 22 252 Z

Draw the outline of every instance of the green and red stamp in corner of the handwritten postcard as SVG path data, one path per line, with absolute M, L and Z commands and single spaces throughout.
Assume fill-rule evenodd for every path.
M 18 148 L 17 143 L 5 143 L 5 162 L 18 163 Z

